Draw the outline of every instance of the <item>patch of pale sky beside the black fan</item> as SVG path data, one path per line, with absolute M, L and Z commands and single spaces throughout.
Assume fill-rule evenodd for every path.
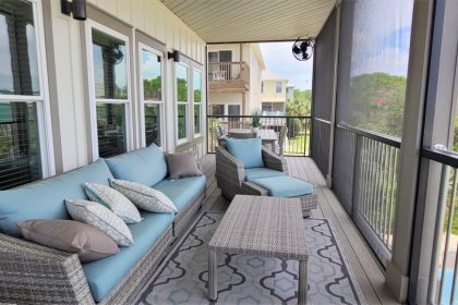
M 313 57 L 308 61 L 297 60 L 291 52 L 293 41 L 260 44 L 267 70 L 288 77 L 288 84 L 302 90 L 312 89 Z

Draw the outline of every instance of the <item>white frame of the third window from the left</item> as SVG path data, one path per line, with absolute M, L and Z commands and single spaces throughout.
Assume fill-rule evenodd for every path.
M 145 100 L 144 87 L 143 87 L 143 60 L 142 51 L 152 52 L 160 57 L 160 101 L 159 100 Z M 138 42 L 138 82 L 140 82 L 140 122 L 142 126 L 142 147 L 146 146 L 146 136 L 145 136 L 145 105 L 159 105 L 160 108 L 160 148 L 162 150 L 167 149 L 167 138 L 166 138 L 166 90 L 165 90 L 165 57 L 164 53 L 152 48 L 145 44 Z

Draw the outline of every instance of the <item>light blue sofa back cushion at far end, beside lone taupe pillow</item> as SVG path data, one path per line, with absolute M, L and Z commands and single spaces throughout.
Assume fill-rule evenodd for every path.
M 167 175 L 164 152 L 155 144 L 106 159 L 113 176 L 120 180 L 155 185 Z

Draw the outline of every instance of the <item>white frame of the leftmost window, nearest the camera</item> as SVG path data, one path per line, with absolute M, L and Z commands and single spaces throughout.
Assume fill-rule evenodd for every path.
M 0 95 L 1 103 L 35 102 L 37 105 L 38 144 L 40 152 L 41 178 L 56 174 L 55 150 L 52 142 L 51 109 L 49 105 L 49 84 L 47 73 L 43 7 L 40 1 L 27 0 L 32 3 L 34 17 L 35 47 L 37 52 L 39 95 Z

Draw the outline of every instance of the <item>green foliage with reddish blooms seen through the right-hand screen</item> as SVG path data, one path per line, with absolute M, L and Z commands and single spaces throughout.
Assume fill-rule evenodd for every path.
M 362 74 L 351 80 L 348 123 L 369 131 L 401 136 L 406 77 L 386 73 Z

